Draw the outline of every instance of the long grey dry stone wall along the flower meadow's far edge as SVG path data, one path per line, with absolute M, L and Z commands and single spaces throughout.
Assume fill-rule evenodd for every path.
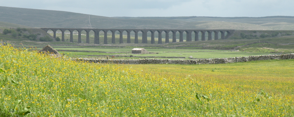
M 220 64 L 235 63 L 270 59 L 294 59 L 294 54 L 282 55 L 261 55 L 219 59 L 199 59 L 199 60 L 168 60 L 168 59 L 138 59 L 138 60 L 114 60 L 114 59 L 73 59 L 90 63 L 115 63 L 115 64 Z

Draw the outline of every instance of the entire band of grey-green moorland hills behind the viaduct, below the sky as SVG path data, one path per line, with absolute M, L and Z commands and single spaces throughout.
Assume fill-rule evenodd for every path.
M 104 17 L 0 6 L 0 21 L 28 27 L 294 30 L 294 17 Z M 90 23 L 91 25 L 90 25 Z

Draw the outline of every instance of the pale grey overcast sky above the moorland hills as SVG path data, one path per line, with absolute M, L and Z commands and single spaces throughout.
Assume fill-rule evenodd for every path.
M 97 16 L 294 16 L 294 0 L 0 0 L 0 6 Z

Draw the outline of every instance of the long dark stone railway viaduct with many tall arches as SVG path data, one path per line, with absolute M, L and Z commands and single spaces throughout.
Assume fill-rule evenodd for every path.
M 186 32 L 186 41 L 192 41 L 192 32 L 195 33 L 195 39 L 194 41 L 199 41 L 199 32 L 201 32 L 201 41 L 205 41 L 205 33 L 208 32 L 208 40 L 212 40 L 212 32 L 214 32 L 214 40 L 219 39 L 218 34 L 219 32 L 221 33 L 221 38 L 220 39 L 226 39 L 229 35 L 231 35 L 234 30 L 165 30 L 165 29 L 84 29 L 84 28 L 41 28 L 44 31 L 52 30 L 53 31 L 53 37 L 56 38 L 56 31 L 60 30 L 62 32 L 62 41 L 65 41 L 64 39 L 64 32 L 68 30 L 70 32 L 70 42 L 73 42 L 73 31 L 78 32 L 78 43 L 82 43 L 81 41 L 81 32 L 83 30 L 86 31 L 86 43 L 90 43 L 89 39 L 89 32 L 92 30 L 94 31 L 94 43 L 95 44 L 100 44 L 100 39 L 99 39 L 99 32 L 103 31 L 104 32 L 104 43 L 107 44 L 107 32 L 111 31 L 112 32 L 112 44 L 115 44 L 115 32 L 118 31 L 120 33 L 119 36 L 119 43 L 123 43 L 123 32 L 127 32 L 127 43 L 131 43 L 131 36 L 130 33 L 131 31 L 135 32 L 135 44 L 138 43 L 138 32 L 142 32 L 142 43 L 147 43 L 147 32 L 151 32 L 151 44 L 155 43 L 154 40 L 154 32 L 158 32 L 158 44 L 162 44 L 162 37 L 161 33 L 165 32 L 165 43 L 169 43 L 169 33 L 172 32 L 173 37 L 172 37 L 172 42 L 176 42 L 176 32 L 179 32 L 180 37 L 179 37 L 179 42 L 183 42 L 183 33 Z M 227 36 L 225 36 L 225 32 L 227 32 Z

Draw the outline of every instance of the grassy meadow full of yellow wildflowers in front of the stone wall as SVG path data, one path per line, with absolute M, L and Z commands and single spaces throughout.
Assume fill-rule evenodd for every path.
M 293 116 L 294 60 L 115 65 L 0 47 L 0 115 Z M 24 112 L 25 111 L 25 112 Z

